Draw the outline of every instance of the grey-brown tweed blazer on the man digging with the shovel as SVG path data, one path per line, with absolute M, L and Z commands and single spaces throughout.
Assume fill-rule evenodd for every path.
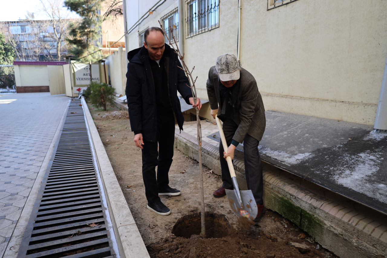
M 238 128 L 233 140 L 243 142 L 246 134 L 260 141 L 265 131 L 266 119 L 262 96 L 258 91 L 257 81 L 250 72 L 241 68 L 240 78 L 233 89 L 232 101 L 235 106 L 235 117 L 232 119 Z M 221 114 L 222 103 L 219 90 L 219 79 L 215 66 L 208 72 L 207 94 L 211 109 L 217 109 Z

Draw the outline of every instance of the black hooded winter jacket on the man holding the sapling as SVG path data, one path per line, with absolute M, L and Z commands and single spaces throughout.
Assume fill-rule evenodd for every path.
M 181 112 L 177 91 L 183 96 L 187 104 L 192 92 L 185 72 L 178 60 L 178 55 L 165 44 L 163 53 L 165 71 L 168 76 L 168 95 L 173 113 L 180 130 L 183 130 L 184 117 Z M 142 46 L 128 53 L 128 71 L 126 74 L 126 96 L 130 127 L 134 132 L 141 132 L 146 141 L 157 141 L 157 107 L 154 81 L 148 50 Z

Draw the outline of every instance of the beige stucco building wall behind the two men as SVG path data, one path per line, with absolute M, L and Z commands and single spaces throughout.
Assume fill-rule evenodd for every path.
M 149 15 L 128 35 L 129 50 L 138 47 L 139 31 L 177 5 L 166 1 Z M 267 10 L 265 0 L 241 0 L 240 60 L 265 109 L 372 125 L 387 55 L 386 9 L 387 1 L 298 0 Z M 223 53 L 237 55 L 237 42 L 236 0 L 221 1 L 219 28 L 185 38 L 200 98 L 207 98 L 208 69 Z

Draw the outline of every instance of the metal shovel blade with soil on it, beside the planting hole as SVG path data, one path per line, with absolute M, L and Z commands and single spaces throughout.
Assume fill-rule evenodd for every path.
M 246 217 L 251 220 L 257 217 L 258 207 L 251 190 L 225 190 L 231 210 L 237 217 Z M 235 191 L 240 192 L 241 203 L 238 202 L 238 194 Z

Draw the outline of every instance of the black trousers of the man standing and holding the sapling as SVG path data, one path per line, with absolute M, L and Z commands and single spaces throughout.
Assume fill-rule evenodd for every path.
M 168 186 L 175 142 L 175 117 L 162 114 L 157 118 L 157 142 L 144 140 L 142 149 L 142 179 L 148 203 L 160 201 L 159 189 Z M 157 166 L 157 176 L 156 176 Z

